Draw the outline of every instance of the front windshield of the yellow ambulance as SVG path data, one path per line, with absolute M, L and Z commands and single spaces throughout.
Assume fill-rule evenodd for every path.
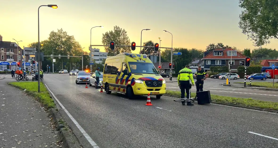
M 158 74 L 153 63 L 128 62 L 131 73 Z

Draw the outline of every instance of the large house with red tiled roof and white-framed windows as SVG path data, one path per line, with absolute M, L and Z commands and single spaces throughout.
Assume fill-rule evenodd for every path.
M 231 61 L 232 58 L 232 61 Z M 240 63 L 244 62 L 246 56 L 233 50 L 232 48 L 215 49 L 211 52 L 204 52 L 202 58 L 204 70 L 208 71 L 211 66 L 229 66 L 232 64 L 232 72 L 237 72 Z

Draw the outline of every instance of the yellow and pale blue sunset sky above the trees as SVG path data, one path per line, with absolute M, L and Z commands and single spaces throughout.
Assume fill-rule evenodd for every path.
M 148 40 L 161 47 L 205 49 L 210 43 L 222 42 L 238 49 L 257 48 L 238 27 L 241 8 L 238 0 L 8 0 L 1 2 L 0 34 L 3 41 L 23 40 L 27 47 L 38 41 L 38 7 L 57 4 L 57 9 L 40 8 L 40 40 L 57 29 L 67 31 L 88 51 L 90 29 L 92 44 L 101 45 L 102 34 L 118 25 L 127 31 L 131 42 L 140 45 Z M 263 47 L 277 48 L 278 40 Z M 96 47 L 104 50 L 103 47 Z M 136 47 L 135 53 L 140 51 Z

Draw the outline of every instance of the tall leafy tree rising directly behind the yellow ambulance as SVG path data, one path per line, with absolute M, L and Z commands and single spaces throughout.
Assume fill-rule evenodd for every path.
M 120 28 L 119 26 L 114 26 L 113 30 L 102 34 L 103 45 L 109 45 L 111 41 L 114 41 L 115 45 L 131 45 L 126 30 Z M 114 56 L 123 52 L 131 53 L 131 47 L 115 46 L 115 49 L 112 51 L 109 47 L 105 46 L 104 49 L 105 52 L 108 53 L 108 56 Z

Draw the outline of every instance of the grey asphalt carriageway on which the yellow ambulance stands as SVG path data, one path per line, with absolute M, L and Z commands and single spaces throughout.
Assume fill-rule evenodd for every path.
M 44 75 L 83 147 L 278 147 L 278 114 L 197 102 L 182 106 L 166 96 L 151 97 L 153 106 L 146 106 L 147 96 L 130 100 L 107 95 L 76 85 L 75 79 L 68 74 Z

